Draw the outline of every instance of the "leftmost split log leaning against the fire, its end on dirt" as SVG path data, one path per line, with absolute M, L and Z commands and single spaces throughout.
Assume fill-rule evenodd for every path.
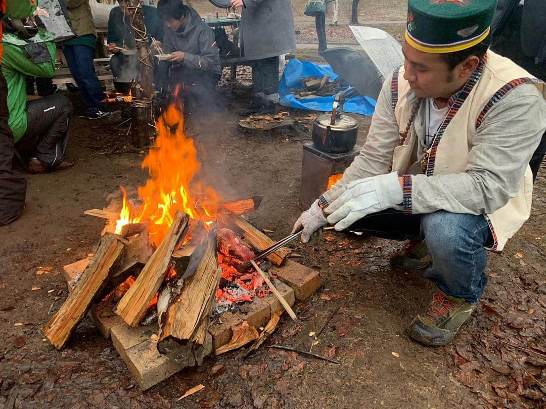
M 122 250 L 123 243 L 118 236 L 106 234 L 100 239 L 97 251 L 82 273 L 78 284 L 43 329 L 52 345 L 59 349 L 66 345 L 70 334 L 84 318 L 96 295 L 108 282 L 110 269 L 120 257 Z

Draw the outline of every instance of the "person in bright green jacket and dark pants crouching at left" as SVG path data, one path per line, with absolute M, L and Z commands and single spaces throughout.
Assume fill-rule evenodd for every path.
M 27 101 L 25 76 L 51 78 L 55 69 L 55 43 L 43 28 L 19 31 L 18 21 L 3 21 L 2 74 L 8 84 L 8 124 L 15 147 L 30 152 L 31 173 L 66 169 L 64 159 L 72 104 L 67 97 L 52 95 Z M 32 35 L 32 37 L 29 37 Z

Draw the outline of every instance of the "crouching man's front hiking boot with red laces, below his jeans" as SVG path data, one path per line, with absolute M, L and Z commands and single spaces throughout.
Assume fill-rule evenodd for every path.
M 408 335 L 431 347 L 446 345 L 470 317 L 475 305 L 437 290 L 426 312 L 413 319 Z

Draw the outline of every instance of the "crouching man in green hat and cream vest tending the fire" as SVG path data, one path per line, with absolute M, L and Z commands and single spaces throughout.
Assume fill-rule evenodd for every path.
M 546 129 L 546 86 L 488 51 L 495 0 L 408 2 L 405 61 L 385 81 L 360 155 L 301 214 L 302 241 L 325 224 L 417 243 L 393 259 L 437 286 L 408 334 L 453 340 L 499 252 L 529 218 L 529 159 Z

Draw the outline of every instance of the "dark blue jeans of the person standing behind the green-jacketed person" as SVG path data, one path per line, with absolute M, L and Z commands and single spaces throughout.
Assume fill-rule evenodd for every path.
M 65 45 L 64 57 L 67 59 L 72 78 L 78 84 L 85 106 L 105 110 L 102 100 L 106 98 L 106 95 L 95 74 L 93 49 L 87 45 Z

